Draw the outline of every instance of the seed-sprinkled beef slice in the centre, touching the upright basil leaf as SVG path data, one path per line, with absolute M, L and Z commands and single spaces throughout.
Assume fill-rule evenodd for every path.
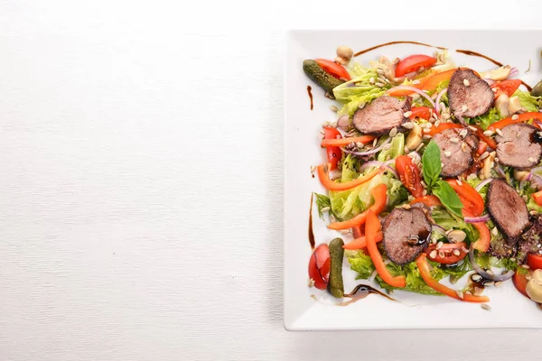
M 443 177 L 457 177 L 472 166 L 472 153 L 478 149 L 478 138 L 469 128 L 446 129 L 435 134 L 433 140 L 441 151 Z

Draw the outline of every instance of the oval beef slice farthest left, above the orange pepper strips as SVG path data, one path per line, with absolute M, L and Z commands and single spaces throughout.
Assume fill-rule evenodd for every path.
M 363 134 L 387 134 L 406 122 L 405 112 L 410 110 L 410 97 L 378 97 L 354 113 L 353 124 Z

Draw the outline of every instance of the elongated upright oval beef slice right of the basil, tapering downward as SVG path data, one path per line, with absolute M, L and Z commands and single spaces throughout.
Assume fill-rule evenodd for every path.
M 504 180 L 491 181 L 486 205 L 496 226 L 506 236 L 509 245 L 515 245 L 529 226 L 525 201 Z

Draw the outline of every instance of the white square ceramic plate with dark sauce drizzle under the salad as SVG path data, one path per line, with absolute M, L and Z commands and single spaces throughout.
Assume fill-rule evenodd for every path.
M 322 123 L 334 120 L 329 109 L 332 100 L 304 75 L 305 59 L 334 57 L 338 45 L 354 51 L 384 42 L 425 42 L 448 48 L 458 66 L 477 70 L 493 69 L 488 60 L 467 56 L 455 50 L 477 51 L 503 64 L 519 69 L 519 79 L 535 85 L 542 77 L 540 44 L 542 31 L 292 31 L 287 34 L 285 63 L 285 328 L 323 329 L 472 329 L 538 328 L 542 312 L 534 302 L 517 292 L 512 282 L 486 290 L 491 311 L 480 304 L 447 297 L 394 292 L 400 302 L 369 295 L 346 307 L 332 304 L 331 296 L 307 287 L 307 264 L 312 254 L 307 236 L 311 192 L 324 193 L 318 178 L 312 178 L 311 165 L 319 164 L 324 153 L 318 134 Z M 435 49 L 398 44 L 363 54 L 356 60 L 368 64 L 379 56 L 405 57 L 414 53 L 432 54 Z M 528 73 L 525 71 L 530 64 Z M 310 110 L 307 85 L 313 87 L 314 108 Z M 340 234 L 330 231 L 313 209 L 316 244 L 329 242 Z M 343 236 L 347 241 L 346 236 Z M 359 282 L 345 260 L 345 291 Z M 367 282 L 364 282 L 367 283 Z M 315 301 L 311 295 L 316 294 Z

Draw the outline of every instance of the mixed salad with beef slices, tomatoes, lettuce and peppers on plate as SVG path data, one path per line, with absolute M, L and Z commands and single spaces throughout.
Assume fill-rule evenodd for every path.
M 303 69 L 338 103 L 312 168 L 338 237 L 314 247 L 309 287 L 352 297 L 346 259 L 388 293 L 489 309 L 485 288 L 511 280 L 542 302 L 542 83 L 531 89 L 510 65 L 457 65 L 446 50 L 361 64 L 341 46 Z

